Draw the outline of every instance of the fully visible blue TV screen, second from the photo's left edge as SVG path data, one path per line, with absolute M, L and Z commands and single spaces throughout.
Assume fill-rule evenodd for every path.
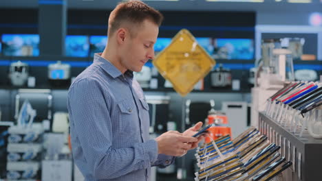
M 65 38 L 65 55 L 87 57 L 89 53 L 88 36 L 67 35 Z

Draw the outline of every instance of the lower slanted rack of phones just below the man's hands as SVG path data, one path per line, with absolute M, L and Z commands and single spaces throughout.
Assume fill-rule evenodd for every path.
M 197 147 L 199 170 L 195 181 L 279 180 L 292 162 L 281 156 L 281 147 L 250 127 L 236 138 L 221 136 Z

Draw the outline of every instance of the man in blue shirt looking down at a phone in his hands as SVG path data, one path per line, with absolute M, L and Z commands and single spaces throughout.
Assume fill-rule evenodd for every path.
M 72 153 L 85 180 L 149 180 L 202 139 L 202 123 L 149 139 L 149 106 L 133 71 L 154 58 L 162 14 L 141 1 L 120 3 L 109 16 L 108 43 L 69 88 Z

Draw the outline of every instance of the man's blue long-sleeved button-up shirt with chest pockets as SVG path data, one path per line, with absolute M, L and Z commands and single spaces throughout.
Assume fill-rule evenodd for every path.
M 70 86 L 67 108 L 72 154 L 85 180 L 149 180 L 151 166 L 173 162 L 149 139 L 149 106 L 133 73 L 123 75 L 100 54 Z

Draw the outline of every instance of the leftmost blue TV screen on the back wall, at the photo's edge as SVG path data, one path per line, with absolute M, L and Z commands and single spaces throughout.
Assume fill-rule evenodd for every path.
M 39 56 L 38 34 L 3 34 L 3 56 Z

